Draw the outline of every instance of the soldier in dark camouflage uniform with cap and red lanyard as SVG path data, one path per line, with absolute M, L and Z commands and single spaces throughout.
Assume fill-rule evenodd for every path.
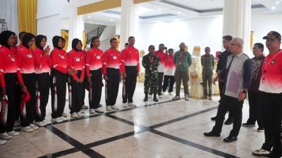
M 149 88 L 151 86 L 152 92 L 154 93 L 154 101 L 158 102 L 157 91 L 158 91 L 158 66 L 159 58 L 154 53 L 154 46 L 149 46 L 149 53 L 142 58 L 142 66 L 145 68 L 145 82 L 144 82 L 144 101 L 148 100 Z

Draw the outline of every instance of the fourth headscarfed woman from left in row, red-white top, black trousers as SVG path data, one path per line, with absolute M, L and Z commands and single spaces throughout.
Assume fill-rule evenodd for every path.
M 66 104 L 66 82 L 67 74 L 73 75 L 74 70 L 68 69 L 68 57 L 66 51 L 63 51 L 63 38 L 55 36 L 52 39 L 54 49 L 51 51 L 52 61 L 52 86 L 51 86 L 51 121 L 62 122 L 66 120 L 63 117 L 63 109 Z

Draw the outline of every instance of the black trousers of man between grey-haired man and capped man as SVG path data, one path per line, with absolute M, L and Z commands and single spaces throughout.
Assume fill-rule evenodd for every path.
M 247 123 L 257 124 L 259 127 L 264 128 L 264 123 L 262 121 L 262 96 L 261 93 L 255 91 L 247 91 L 247 95 L 249 96 L 249 119 L 247 119 Z

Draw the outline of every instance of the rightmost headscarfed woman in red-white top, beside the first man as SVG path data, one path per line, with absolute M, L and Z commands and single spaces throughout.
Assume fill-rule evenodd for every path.
M 68 52 L 68 65 L 76 73 L 68 77 L 68 91 L 71 117 L 75 118 L 83 116 L 83 112 L 80 112 L 80 110 L 84 104 L 85 54 L 81 50 L 82 42 L 79 39 L 73 39 L 71 47 L 73 50 Z

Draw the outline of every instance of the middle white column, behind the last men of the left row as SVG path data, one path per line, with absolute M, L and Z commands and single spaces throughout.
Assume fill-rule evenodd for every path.
M 130 36 L 135 37 L 138 41 L 138 31 L 138 6 L 133 3 L 133 0 L 121 0 L 121 48 Z

